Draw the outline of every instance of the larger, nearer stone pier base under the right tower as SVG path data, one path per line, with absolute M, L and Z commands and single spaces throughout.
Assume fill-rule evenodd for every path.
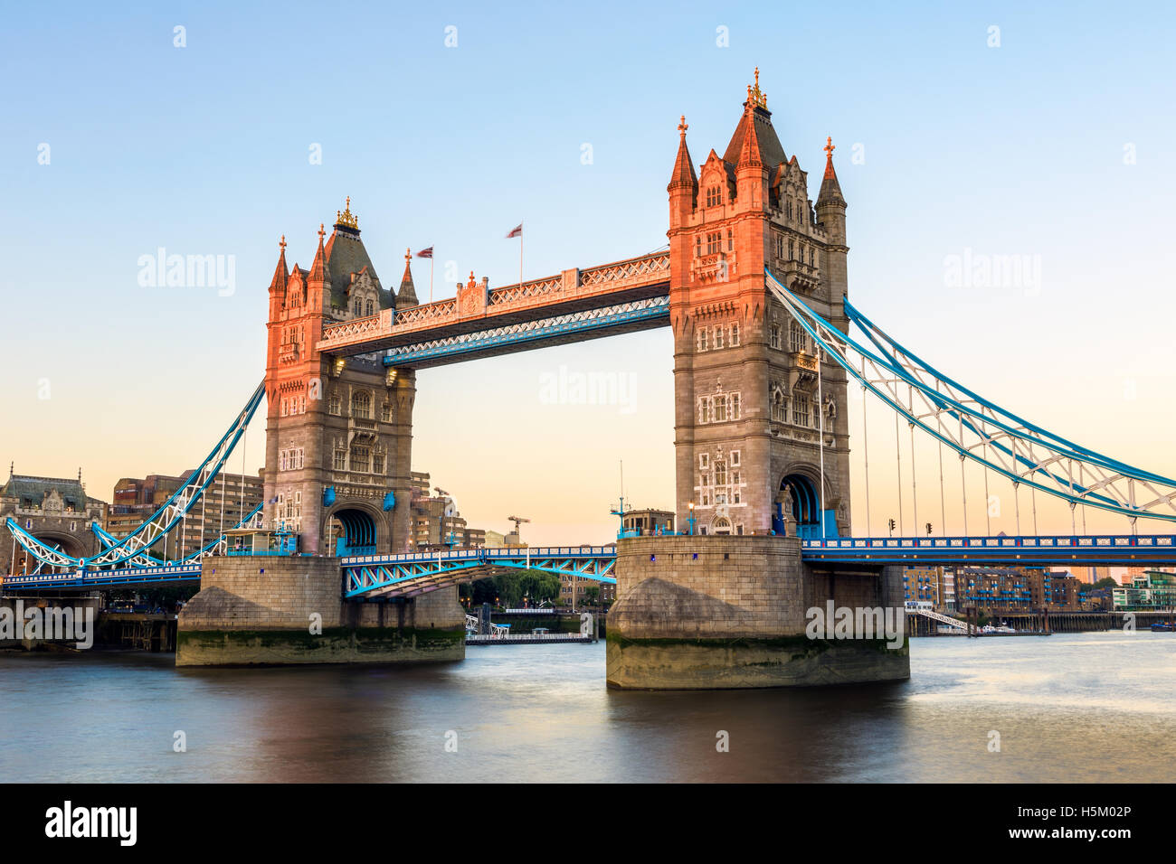
M 775 536 L 623 538 L 616 556 L 609 686 L 813 686 L 910 677 L 898 567 L 814 568 L 801 560 L 797 538 Z M 842 625 L 835 625 L 838 616 Z

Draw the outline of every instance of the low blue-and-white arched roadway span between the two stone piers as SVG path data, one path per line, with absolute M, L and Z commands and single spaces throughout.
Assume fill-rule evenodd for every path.
M 452 549 L 407 555 L 361 555 L 342 560 L 348 598 L 412 597 L 485 577 L 477 568 L 542 570 L 616 584 L 615 547 Z

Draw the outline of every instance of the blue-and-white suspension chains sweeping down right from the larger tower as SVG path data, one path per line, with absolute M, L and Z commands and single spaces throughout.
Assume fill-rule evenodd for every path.
M 848 300 L 846 315 L 874 349 L 830 324 L 770 272 L 766 282 L 817 350 L 961 460 L 977 462 L 1015 487 L 1023 483 L 1062 498 L 1071 513 L 1081 504 L 1127 516 L 1132 525 L 1141 516 L 1176 522 L 1176 481 L 1074 444 L 977 396 L 908 351 Z

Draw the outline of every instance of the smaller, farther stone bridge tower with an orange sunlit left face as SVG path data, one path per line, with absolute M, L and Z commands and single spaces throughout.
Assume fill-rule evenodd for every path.
M 350 199 L 323 234 L 309 270 L 287 272 L 283 236 L 269 283 L 266 525 L 294 530 L 308 554 L 403 551 L 415 373 L 315 346 L 329 324 L 415 306 L 408 256 L 396 296 L 380 284 Z

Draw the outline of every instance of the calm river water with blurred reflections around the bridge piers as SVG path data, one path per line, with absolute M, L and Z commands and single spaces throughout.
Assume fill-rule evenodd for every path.
M 5 652 L 4 776 L 1070 782 L 1170 781 L 1176 764 L 1176 634 L 914 639 L 909 683 L 826 690 L 617 692 L 603 642 L 379 669 L 172 662 Z

